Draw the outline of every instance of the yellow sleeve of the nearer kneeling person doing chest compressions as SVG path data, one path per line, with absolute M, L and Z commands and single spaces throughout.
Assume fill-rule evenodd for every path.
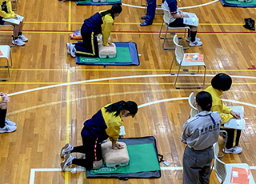
M 110 104 L 106 105 L 109 106 Z M 120 134 L 120 126 L 122 126 L 122 118 L 120 114 L 114 116 L 114 113 L 106 112 L 106 106 L 102 107 L 102 116 L 106 123 L 106 134 L 109 136 L 110 141 L 117 141 Z

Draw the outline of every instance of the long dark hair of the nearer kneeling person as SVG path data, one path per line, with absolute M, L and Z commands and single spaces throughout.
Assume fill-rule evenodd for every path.
M 110 106 L 105 107 L 106 112 L 113 113 L 114 116 L 118 116 L 121 112 L 121 110 L 128 110 L 131 114 L 131 116 L 134 117 L 134 115 L 138 112 L 138 106 L 136 102 L 133 101 L 119 101 L 111 104 Z

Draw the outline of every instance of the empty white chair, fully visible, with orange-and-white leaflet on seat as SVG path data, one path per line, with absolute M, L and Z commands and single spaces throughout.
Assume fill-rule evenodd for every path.
M 176 89 L 180 89 L 180 88 L 202 88 L 202 86 L 205 85 L 205 82 L 206 82 L 206 64 L 204 62 L 185 62 L 185 54 L 184 54 L 184 50 L 183 50 L 183 46 L 181 45 L 178 45 L 178 36 L 175 35 L 174 36 L 174 45 L 175 45 L 175 53 L 174 53 L 174 58 L 176 58 L 176 61 L 178 62 L 178 73 L 177 73 L 177 76 L 176 76 L 176 79 L 175 79 L 175 82 L 174 82 L 174 87 Z M 199 54 L 199 53 L 186 53 L 186 54 Z M 174 75 L 173 73 L 171 73 L 171 70 L 172 70 L 172 66 L 174 64 L 174 58 L 173 58 L 173 61 L 171 62 L 171 65 L 170 65 L 170 74 L 171 75 Z M 190 74 L 190 76 L 193 76 L 194 74 L 198 74 L 199 73 L 199 69 L 200 69 L 200 66 L 203 66 L 205 71 L 204 71 L 204 75 L 203 75 L 203 82 L 202 82 L 202 85 L 201 86 L 176 86 L 176 83 L 177 83 L 177 80 L 178 80 L 178 76 L 180 74 L 180 70 L 183 66 L 198 66 L 198 72 L 197 73 L 187 73 L 186 74 Z M 184 70 L 185 71 L 185 70 Z

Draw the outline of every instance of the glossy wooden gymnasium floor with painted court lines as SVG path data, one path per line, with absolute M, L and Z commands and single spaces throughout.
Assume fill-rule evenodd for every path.
M 180 167 L 185 145 L 179 138 L 190 114 L 184 98 L 200 90 L 174 88 L 175 77 L 169 74 L 174 50 L 163 50 L 158 38 L 162 14 L 156 14 L 152 26 L 141 27 L 140 17 L 145 15 L 141 1 L 122 2 L 123 11 L 116 18 L 111 38 L 114 42 L 136 42 L 141 54 L 139 66 L 78 66 L 66 53 L 66 42 L 74 42 L 70 41 L 70 31 L 79 30 L 85 18 L 110 6 L 76 6 L 75 2 L 57 0 L 18 1 L 16 13 L 25 17 L 23 33 L 29 42 L 11 48 L 11 78 L 0 82 L 0 91 L 10 94 L 7 118 L 18 126 L 14 133 L 0 134 L 0 183 L 182 183 Z M 256 10 L 223 7 L 219 1 L 204 6 L 207 2 L 210 0 L 178 1 L 178 6 L 190 7 L 182 10 L 197 14 L 198 38 L 203 42 L 185 52 L 204 54 L 207 76 L 203 89 L 210 85 L 214 74 L 224 72 L 232 76 L 233 86 L 222 98 L 228 100 L 228 106 L 244 106 L 246 130 L 240 141 L 242 154 L 226 154 L 222 160 L 255 166 L 256 37 L 254 31 L 242 25 L 244 18 L 256 18 Z M 11 32 L 2 28 L 1 34 Z M 177 72 L 178 66 L 174 67 Z M 1 68 L 1 76 L 6 74 L 4 70 Z M 181 77 L 178 83 L 198 83 L 202 79 L 192 78 Z M 119 100 L 133 100 L 140 107 L 135 118 L 124 119 L 125 137 L 154 136 L 158 152 L 170 162 L 169 169 L 162 170 L 158 179 L 125 182 L 86 179 L 84 172 L 61 172 L 62 146 L 66 142 L 81 145 L 82 123 L 102 106 Z M 161 163 L 161 167 L 166 166 Z M 256 170 L 251 172 L 256 178 Z M 218 183 L 214 172 L 210 182 Z

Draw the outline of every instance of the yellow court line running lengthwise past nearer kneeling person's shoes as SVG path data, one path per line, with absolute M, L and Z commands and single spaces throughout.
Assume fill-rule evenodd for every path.
M 70 82 L 70 71 L 67 72 L 67 82 Z M 70 85 L 66 86 L 66 143 L 70 142 Z M 70 172 L 65 171 L 65 184 L 69 183 Z

